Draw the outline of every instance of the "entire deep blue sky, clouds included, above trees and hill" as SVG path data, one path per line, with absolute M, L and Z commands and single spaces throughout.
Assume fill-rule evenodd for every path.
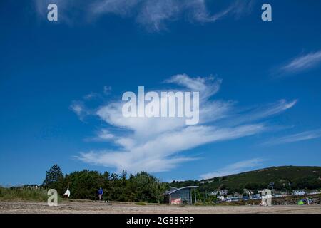
M 58 22 L 49 1 L 0 3 L 1 185 L 56 163 L 165 181 L 321 165 L 320 1 L 268 1 L 266 22 L 265 1 L 51 2 Z M 210 93 L 202 121 L 127 123 L 138 86 Z

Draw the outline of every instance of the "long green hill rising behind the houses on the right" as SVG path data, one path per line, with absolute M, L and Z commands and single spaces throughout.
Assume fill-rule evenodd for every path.
M 171 182 L 173 187 L 187 185 L 200 186 L 200 192 L 211 192 L 218 189 L 228 189 L 229 192 L 248 190 L 263 190 L 274 182 L 275 190 L 321 189 L 321 167 L 317 166 L 280 166 L 267 167 L 260 170 L 242 172 L 225 177 L 214 177 L 208 180 L 188 180 Z M 290 184 L 289 184 L 290 182 Z

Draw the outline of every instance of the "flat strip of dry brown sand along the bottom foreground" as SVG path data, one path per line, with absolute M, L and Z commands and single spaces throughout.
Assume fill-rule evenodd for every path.
M 321 205 L 285 205 L 285 206 L 175 206 L 167 204 L 136 205 L 133 203 L 111 202 L 68 202 L 58 207 L 49 207 L 44 202 L 0 202 L 0 214 L 3 213 L 82 213 L 82 214 L 225 214 L 225 213 L 300 213 L 321 214 Z

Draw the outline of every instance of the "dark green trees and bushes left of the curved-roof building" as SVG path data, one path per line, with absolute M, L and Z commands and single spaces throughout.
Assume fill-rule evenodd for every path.
M 56 189 L 63 195 L 67 187 L 73 199 L 98 199 L 98 189 L 103 188 L 103 200 L 129 202 L 163 202 L 163 192 L 168 190 L 167 183 L 163 183 L 147 172 L 136 175 L 121 175 L 116 173 L 82 170 L 63 175 L 61 168 L 54 165 L 46 172 L 43 183 L 46 189 Z

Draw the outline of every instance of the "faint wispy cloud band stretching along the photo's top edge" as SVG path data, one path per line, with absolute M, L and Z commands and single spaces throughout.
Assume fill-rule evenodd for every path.
M 209 23 L 232 15 L 239 18 L 252 9 L 253 0 L 235 0 L 216 13 L 210 13 L 206 6 L 207 0 L 34 0 L 37 12 L 44 16 L 46 6 L 56 3 L 63 21 L 72 23 L 78 14 L 71 11 L 81 11 L 81 16 L 97 17 L 102 14 L 116 14 L 133 18 L 152 31 L 165 28 L 165 23 L 177 19 L 188 19 L 199 23 Z M 75 19 L 76 20 L 76 19 Z

